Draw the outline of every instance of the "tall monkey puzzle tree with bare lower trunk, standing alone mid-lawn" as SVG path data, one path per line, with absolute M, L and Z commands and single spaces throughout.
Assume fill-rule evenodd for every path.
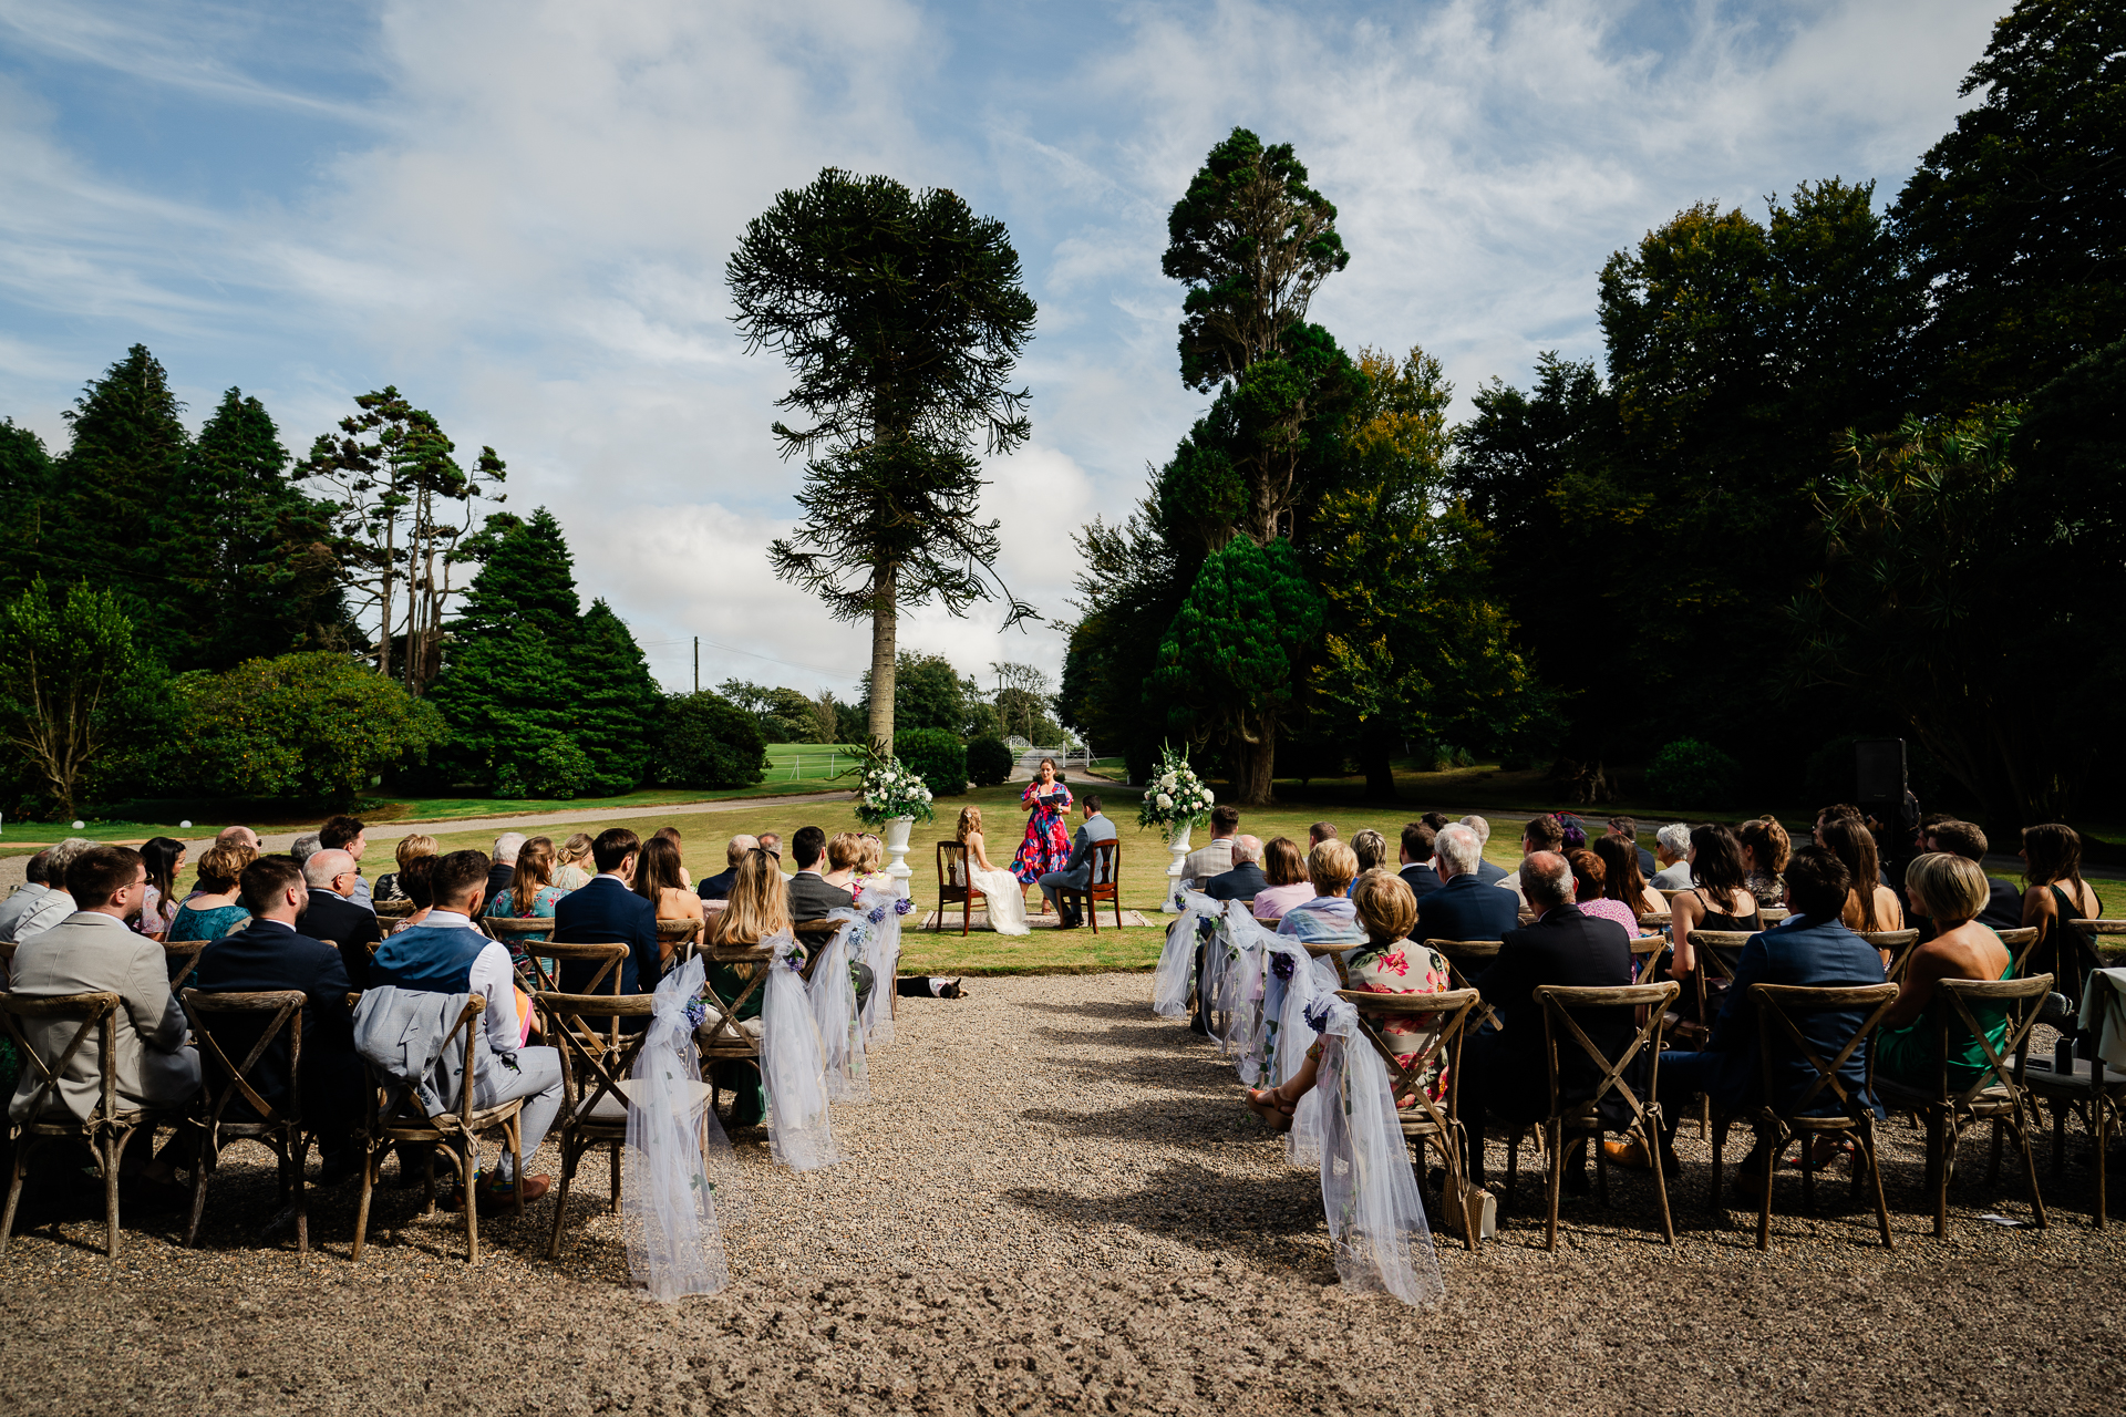
M 797 376 L 778 399 L 810 427 L 774 425 L 806 463 L 806 523 L 770 548 L 776 576 L 840 620 L 872 618 L 870 735 L 893 741 L 901 605 L 952 614 L 1006 597 L 997 523 L 978 523 L 980 429 L 989 453 L 1027 440 L 1029 393 L 1012 389 L 1033 336 L 1033 300 L 1001 221 L 950 191 L 827 168 L 746 223 L 725 268 L 746 348 L 774 348 Z

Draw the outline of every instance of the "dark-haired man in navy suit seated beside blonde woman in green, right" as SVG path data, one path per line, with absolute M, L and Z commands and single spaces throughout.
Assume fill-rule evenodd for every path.
M 1720 1003 L 1705 1052 L 1667 1052 L 1660 1056 L 1660 1164 L 1675 1173 L 1675 1126 L 1690 1111 L 1690 1098 L 1699 1092 L 1711 1096 L 1714 1107 L 1735 1117 L 1765 1103 L 1765 1069 L 1758 1056 L 1758 1011 L 1750 998 L 1752 984 L 1799 984 L 1805 988 L 1862 988 L 1882 984 L 1882 956 L 1865 939 L 1845 928 L 1839 914 L 1845 909 L 1850 880 L 1845 865 L 1820 846 L 1807 846 L 1786 863 L 1786 890 L 1794 911 L 1760 935 L 1752 935 L 1735 964 L 1735 988 Z M 1854 1028 L 1867 1022 L 1873 1009 L 1811 1011 L 1801 1013 L 1794 1024 L 1820 1058 L 1835 1058 Z M 1794 1049 L 1777 1049 L 1779 1094 L 1775 1107 L 1792 1107 L 1816 1081 L 1816 1069 Z M 1877 1054 L 1879 1066 L 1879 1054 Z M 1843 1086 L 1854 1094 L 1867 1094 L 1867 1045 L 1854 1049 L 1845 1066 L 1839 1069 Z M 1822 1094 L 1818 1115 L 1833 1115 L 1839 1103 L 1830 1092 Z M 1875 1109 L 1882 1115 L 1882 1109 Z M 1760 1200 L 1765 1177 L 1762 1141 L 1743 1160 L 1737 1175 L 1737 1190 L 1748 1202 Z M 1828 1160 L 1828 1154 L 1820 1156 Z M 1612 1141 L 1609 1160 L 1620 1166 L 1646 1166 L 1646 1147 L 1637 1139 Z

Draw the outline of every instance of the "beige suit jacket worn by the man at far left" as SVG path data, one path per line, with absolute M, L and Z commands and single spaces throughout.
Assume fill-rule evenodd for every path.
M 170 996 L 162 945 L 134 935 L 123 920 L 74 911 L 15 947 L 13 990 L 19 996 L 117 994 L 119 1107 L 183 1103 L 200 1090 L 200 1056 L 185 1045 L 185 1009 Z M 79 1024 L 23 1020 L 23 1037 L 43 1058 L 66 1052 Z M 60 1075 L 60 1103 L 87 1117 L 102 1100 L 102 1032 L 91 1030 Z M 36 1069 L 23 1064 L 9 1117 L 28 1120 Z

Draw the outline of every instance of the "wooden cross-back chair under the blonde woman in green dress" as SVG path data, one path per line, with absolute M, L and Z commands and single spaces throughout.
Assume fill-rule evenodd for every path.
M 2037 1026 L 2037 1013 L 2045 1003 L 2045 994 L 2052 992 L 2052 975 L 2032 975 L 2028 979 L 1937 979 L 1935 990 L 1939 990 L 1950 1007 L 1937 1009 L 1935 1058 L 1941 1060 L 1941 1073 L 1933 1086 L 1913 1088 L 1894 1077 L 1873 1079 L 1875 1094 L 1884 1105 L 1913 1111 L 1926 1124 L 1926 1188 L 1935 1192 L 1935 1234 L 1947 1234 L 1950 1175 L 1956 1171 L 1956 1143 L 1964 1126 L 1973 1122 L 1994 1124 L 1992 1183 L 2001 1181 L 2001 1128 L 2013 1132 L 2015 1145 L 2022 1147 L 2024 1175 L 2030 1179 L 2030 1211 L 2037 1217 L 2037 1228 L 2043 1230 L 2045 1198 L 2037 1190 L 2037 1160 L 2030 1151 L 2030 1122 L 2035 1120 L 2037 1103 L 2024 1105 L 2022 1075 L 2030 1028 Z M 2007 1037 L 2005 1047 L 1998 1052 L 1977 1026 L 1971 1011 L 1973 1005 L 2003 1007 Z M 1958 1090 L 1950 1090 L 1947 1035 L 1952 1020 L 1962 1024 L 1986 1054 L 1986 1069 L 1977 1079 Z

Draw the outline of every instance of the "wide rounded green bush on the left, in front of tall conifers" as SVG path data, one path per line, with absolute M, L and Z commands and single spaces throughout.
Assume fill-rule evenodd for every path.
M 172 688 L 172 756 L 189 765 L 187 786 L 219 797 L 347 805 L 446 731 L 434 705 L 332 652 L 253 659 Z

